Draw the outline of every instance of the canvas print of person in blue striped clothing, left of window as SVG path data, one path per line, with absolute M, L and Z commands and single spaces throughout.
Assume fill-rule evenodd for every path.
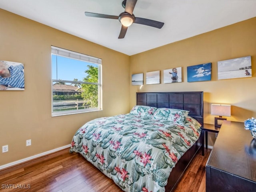
M 0 90 L 24 90 L 24 65 L 0 60 Z

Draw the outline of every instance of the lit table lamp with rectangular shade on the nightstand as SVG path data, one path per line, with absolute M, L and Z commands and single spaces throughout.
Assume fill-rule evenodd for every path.
M 214 118 L 214 125 L 216 127 L 221 127 L 223 120 L 227 120 L 226 118 L 222 118 L 222 116 L 228 116 L 228 117 L 231 116 L 231 105 L 212 104 L 211 115 L 219 116 Z

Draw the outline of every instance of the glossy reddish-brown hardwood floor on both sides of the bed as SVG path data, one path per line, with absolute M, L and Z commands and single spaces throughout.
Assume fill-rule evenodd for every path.
M 205 192 L 210 150 L 196 154 L 174 192 Z M 80 154 L 61 150 L 0 171 L 0 192 L 122 192 Z

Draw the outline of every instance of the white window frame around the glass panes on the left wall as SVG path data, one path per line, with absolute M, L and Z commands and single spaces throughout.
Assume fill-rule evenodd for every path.
M 53 86 L 53 82 L 98 85 L 98 108 L 88 108 L 88 109 L 53 112 L 53 88 L 52 88 L 52 117 L 102 110 L 102 59 L 92 57 L 92 56 L 88 56 L 88 55 L 85 55 L 85 54 L 81 54 L 81 53 L 78 53 L 78 52 L 62 49 L 62 48 L 55 47 L 55 46 L 51 46 L 51 48 L 52 48 L 51 55 L 55 54 L 57 56 L 63 56 L 63 57 L 67 57 L 67 58 L 72 58 L 72 59 L 76 59 L 76 60 L 90 62 L 92 64 L 98 64 L 98 83 L 52 79 L 52 86 Z M 52 62 L 52 57 L 51 57 L 51 62 Z M 52 65 L 51 65 L 51 70 L 52 70 Z

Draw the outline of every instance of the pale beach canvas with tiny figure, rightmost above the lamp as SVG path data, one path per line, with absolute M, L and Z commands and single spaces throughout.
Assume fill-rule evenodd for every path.
M 218 79 L 252 77 L 251 56 L 218 61 Z

